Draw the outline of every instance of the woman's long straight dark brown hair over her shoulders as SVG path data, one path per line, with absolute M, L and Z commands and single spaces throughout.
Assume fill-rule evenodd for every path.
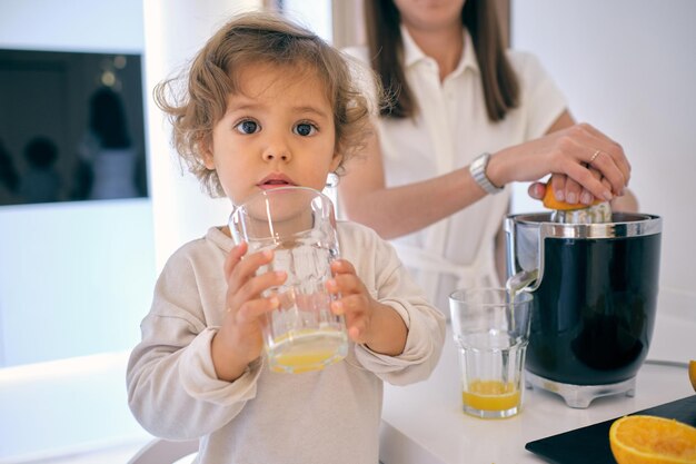
M 418 108 L 404 72 L 399 10 L 392 0 L 365 0 L 365 22 L 372 69 L 385 93 L 391 97 L 390 105 L 382 105 L 381 115 L 410 118 Z M 517 107 L 519 86 L 505 55 L 495 2 L 467 0 L 461 23 L 471 34 L 476 49 L 488 119 L 499 121 Z

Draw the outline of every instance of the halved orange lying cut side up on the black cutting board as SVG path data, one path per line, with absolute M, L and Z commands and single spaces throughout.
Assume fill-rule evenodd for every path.
M 696 463 L 696 427 L 672 418 L 618 418 L 609 428 L 609 444 L 618 464 Z

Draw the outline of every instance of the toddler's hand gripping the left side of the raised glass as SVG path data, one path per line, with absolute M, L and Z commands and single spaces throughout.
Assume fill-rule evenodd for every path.
M 257 276 L 258 269 L 274 259 L 274 253 L 265 250 L 245 257 L 247 249 L 242 243 L 225 260 L 226 314 L 211 344 L 218 378 L 228 382 L 241 376 L 247 365 L 261 354 L 264 316 L 279 305 L 277 297 L 264 298 L 261 293 L 287 279 L 285 272 Z

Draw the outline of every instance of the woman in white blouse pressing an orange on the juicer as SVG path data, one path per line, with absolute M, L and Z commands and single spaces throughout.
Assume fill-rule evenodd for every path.
M 366 0 L 365 12 L 369 47 L 348 52 L 392 98 L 366 156 L 346 167 L 341 207 L 395 239 L 440 309 L 455 288 L 500 285 L 508 184 L 554 174 L 557 199 L 636 208 L 622 197 L 622 147 L 575 124 L 533 56 L 504 50 L 495 2 Z M 545 189 L 535 182 L 529 194 Z

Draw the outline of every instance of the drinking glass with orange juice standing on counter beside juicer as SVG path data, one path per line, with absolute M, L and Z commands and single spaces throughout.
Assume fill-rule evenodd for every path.
M 483 418 L 520 412 L 531 294 L 470 288 L 449 296 L 464 412 Z

